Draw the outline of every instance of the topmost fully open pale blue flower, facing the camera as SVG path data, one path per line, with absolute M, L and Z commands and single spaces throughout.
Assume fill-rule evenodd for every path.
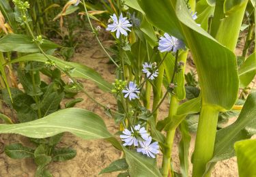
M 128 33 L 126 31 L 130 31 L 128 27 L 132 27 L 130 22 L 127 20 L 127 17 L 123 17 L 123 14 L 121 14 L 118 20 L 117 16 L 113 14 L 111 18 L 113 20 L 113 24 L 109 24 L 108 27 L 106 28 L 106 31 L 111 31 L 111 32 L 117 31 L 117 33 L 115 34 L 117 38 L 120 37 L 120 33 L 122 35 L 127 36 Z

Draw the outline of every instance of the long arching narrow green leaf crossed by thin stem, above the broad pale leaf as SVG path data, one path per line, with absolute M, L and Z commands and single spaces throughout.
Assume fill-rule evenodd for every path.
M 66 67 L 72 69 L 70 72 L 70 75 L 72 77 L 77 78 L 85 78 L 94 81 L 103 91 L 111 91 L 112 85 L 109 82 L 106 82 L 98 72 L 94 71 L 94 69 L 91 69 L 90 67 L 87 67 L 85 65 L 81 65 L 79 63 L 73 63 L 73 62 L 67 62 L 63 61 L 61 59 L 57 59 L 56 57 L 53 57 L 51 55 L 48 55 L 48 57 L 56 63 L 58 67 L 65 70 Z M 16 63 L 21 61 L 39 61 L 46 63 L 47 59 L 44 57 L 43 54 L 28 54 L 24 57 L 20 57 L 18 59 L 14 59 L 10 61 L 10 63 Z

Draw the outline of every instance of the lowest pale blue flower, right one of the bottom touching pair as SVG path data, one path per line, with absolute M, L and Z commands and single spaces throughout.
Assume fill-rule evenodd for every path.
M 156 158 L 156 154 L 159 153 L 158 142 L 152 142 L 152 137 L 150 136 L 145 141 L 139 141 L 140 148 L 137 148 L 137 152 L 142 152 L 143 155 L 147 157 Z

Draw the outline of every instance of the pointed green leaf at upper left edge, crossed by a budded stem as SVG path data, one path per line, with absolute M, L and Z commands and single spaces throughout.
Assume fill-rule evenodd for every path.
M 44 43 L 41 45 L 44 50 L 51 50 L 59 48 L 60 46 L 44 39 Z M 27 52 L 35 53 L 40 52 L 38 46 L 33 42 L 32 38 L 28 35 L 8 34 L 0 39 L 0 51 L 1 52 Z

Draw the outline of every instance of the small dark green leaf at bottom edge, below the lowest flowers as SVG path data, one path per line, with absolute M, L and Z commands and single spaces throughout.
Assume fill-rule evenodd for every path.
M 113 161 L 108 167 L 104 168 L 99 174 L 106 174 L 117 171 L 124 171 L 128 169 L 126 159 L 118 159 Z

